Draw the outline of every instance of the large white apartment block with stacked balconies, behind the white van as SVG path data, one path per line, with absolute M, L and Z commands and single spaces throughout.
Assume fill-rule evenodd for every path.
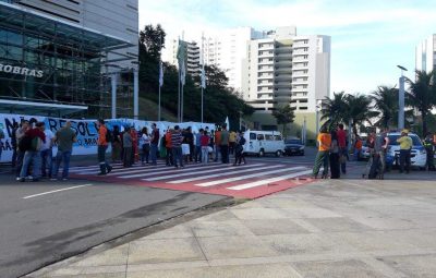
M 243 98 L 257 111 L 291 105 L 295 112 L 315 112 L 316 99 L 329 95 L 330 37 L 296 36 L 294 27 L 283 27 L 251 40 L 247 53 Z

